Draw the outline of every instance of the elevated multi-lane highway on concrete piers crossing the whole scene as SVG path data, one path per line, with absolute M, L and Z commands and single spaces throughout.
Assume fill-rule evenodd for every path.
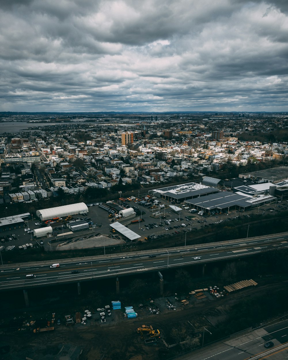
M 201 265 L 287 247 L 288 233 L 282 233 L 269 235 L 269 237 L 230 240 L 225 243 L 199 244 L 61 261 L 54 260 L 49 263 L 45 261 L 4 265 L 0 266 L 0 290 L 81 282 L 145 271 L 161 271 L 171 267 Z M 53 262 L 59 262 L 60 267 L 50 269 Z M 77 270 L 79 273 L 72 274 L 73 270 Z M 36 278 L 26 279 L 27 274 L 36 275 Z

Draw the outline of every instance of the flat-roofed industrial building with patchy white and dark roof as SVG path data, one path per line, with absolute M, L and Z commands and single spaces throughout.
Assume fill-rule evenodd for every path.
M 184 200 L 193 199 L 199 196 L 214 194 L 218 192 L 219 190 L 216 188 L 197 183 L 186 183 L 181 185 L 168 186 L 166 188 L 150 190 L 150 193 L 152 193 L 154 196 L 178 204 L 183 202 Z

